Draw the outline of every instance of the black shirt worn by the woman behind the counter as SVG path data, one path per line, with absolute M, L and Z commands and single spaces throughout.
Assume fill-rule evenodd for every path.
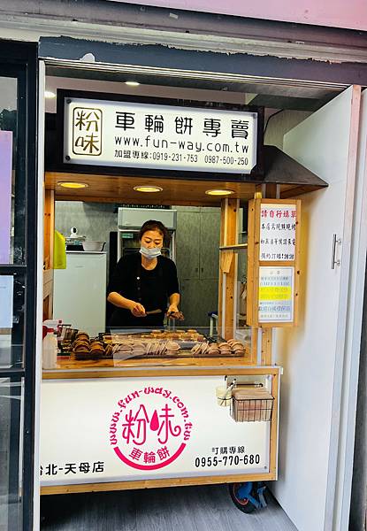
M 170 258 L 159 256 L 157 266 L 148 270 L 141 266 L 140 253 L 126 255 L 119 259 L 112 274 L 108 293 L 112 291 L 142 304 L 146 312 L 157 309 L 162 312 L 134 317 L 130 310 L 116 307 L 111 316 L 111 327 L 161 327 L 167 300 L 173 293 L 180 293 L 176 266 Z

